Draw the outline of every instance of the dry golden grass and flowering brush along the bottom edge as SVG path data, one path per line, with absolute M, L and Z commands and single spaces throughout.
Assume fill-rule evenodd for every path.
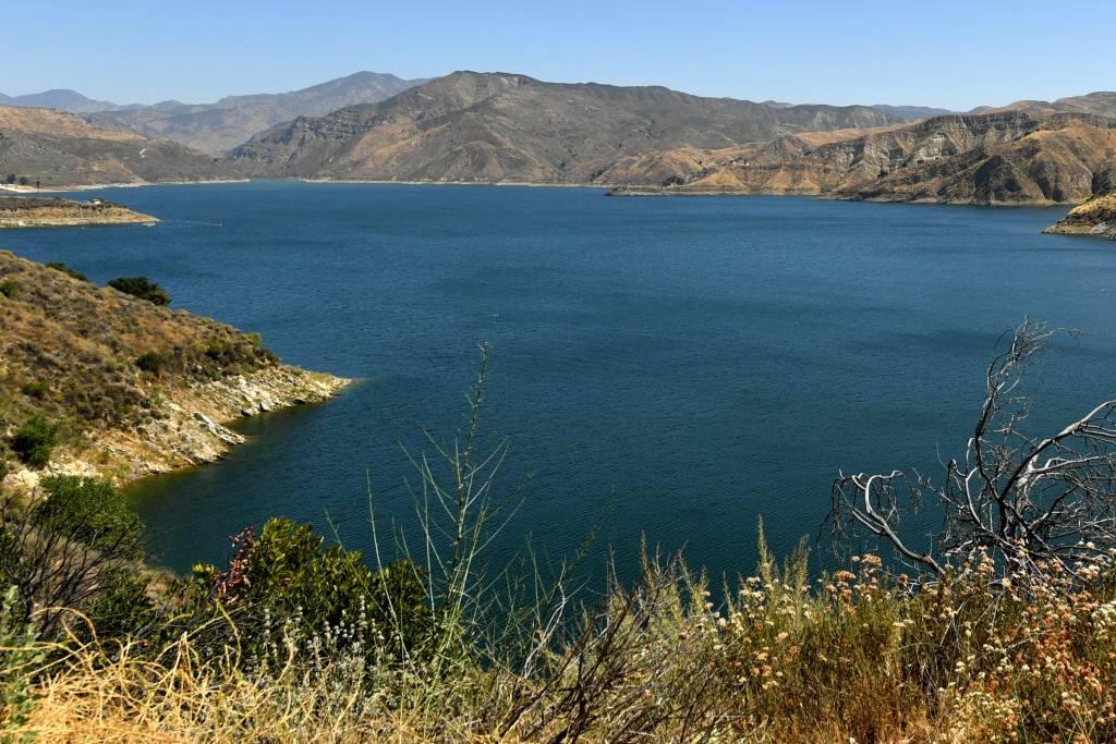
M 989 562 L 913 592 L 866 557 L 816 583 L 759 574 L 714 607 L 681 563 L 594 612 L 540 624 L 527 655 L 403 665 L 286 638 L 269 659 L 182 637 L 71 647 L 37 678 L 50 742 L 1110 742 L 1116 587 L 1098 567 L 1033 593 Z M 902 583 L 902 580 L 899 580 Z M 569 605 L 552 608 L 559 617 Z M 385 657 L 386 658 L 386 657 Z M 435 671 L 435 667 L 437 670 Z

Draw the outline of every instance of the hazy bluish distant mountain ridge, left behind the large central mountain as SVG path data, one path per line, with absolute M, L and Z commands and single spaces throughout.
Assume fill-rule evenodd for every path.
M 229 96 L 214 104 L 133 107 L 86 118 L 97 126 L 172 139 L 210 155 L 224 155 L 252 135 L 281 122 L 299 116 L 324 116 L 345 106 L 384 100 L 423 83 L 426 80 L 356 73 L 291 93 Z

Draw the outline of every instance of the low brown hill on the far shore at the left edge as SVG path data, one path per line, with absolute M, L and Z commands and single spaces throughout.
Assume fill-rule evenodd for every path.
M 224 161 L 175 142 L 96 127 L 74 114 L 0 106 L 0 178 L 42 187 L 229 178 Z

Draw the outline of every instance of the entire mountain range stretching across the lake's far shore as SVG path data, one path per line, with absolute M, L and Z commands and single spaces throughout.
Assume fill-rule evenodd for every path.
M 2 100 L 83 112 L 0 105 L 0 176 L 54 186 L 261 176 L 1061 203 L 1116 185 L 1116 93 L 958 114 L 460 71 L 357 73 L 204 105 L 69 90 Z

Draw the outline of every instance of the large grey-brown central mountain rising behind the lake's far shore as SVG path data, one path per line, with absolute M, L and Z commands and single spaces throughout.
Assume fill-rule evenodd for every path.
M 280 125 L 230 157 L 273 176 L 607 183 L 603 176 L 618 160 L 642 153 L 897 120 L 866 106 L 756 104 L 661 87 L 454 73 L 379 104 Z

